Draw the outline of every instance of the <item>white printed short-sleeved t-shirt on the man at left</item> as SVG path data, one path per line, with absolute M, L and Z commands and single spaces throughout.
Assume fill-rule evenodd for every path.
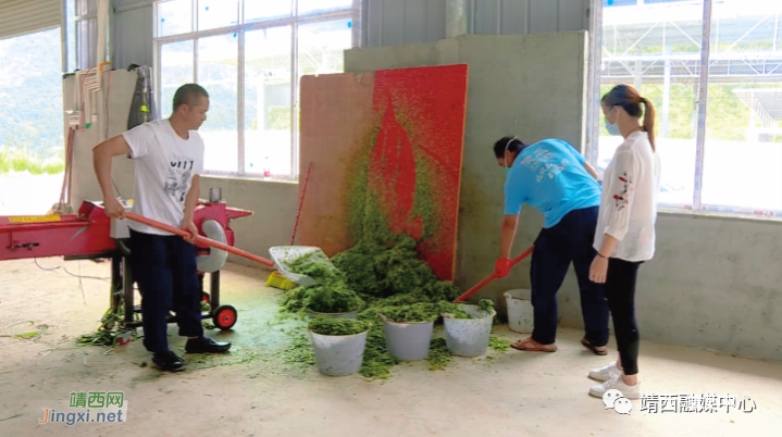
M 123 134 L 136 163 L 133 212 L 179 227 L 193 176 L 203 173 L 203 140 L 190 130 L 183 139 L 167 120 L 145 123 Z M 171 235 L 137 222 L 132 229 Z

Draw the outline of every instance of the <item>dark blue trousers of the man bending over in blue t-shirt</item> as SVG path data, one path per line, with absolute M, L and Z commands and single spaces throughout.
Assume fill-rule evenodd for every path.
M 585 338 L 594 346 L 608 342 L 608 304 L 603 285 L 589 280 L 589 267 L 597 254 L 593 248 L 598 207 L 568 213 L 550 228 L 541 230 L 532 252 L 532 305 L 535 328 L 532 339 L 550 345 L 557 337 L 557 291 L 570 263 L 575 267 L 581 290 Z

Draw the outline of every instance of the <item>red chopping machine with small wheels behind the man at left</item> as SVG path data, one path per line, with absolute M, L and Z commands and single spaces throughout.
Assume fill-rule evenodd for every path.
M 128 202 L 124 204 L 129 209 Z M 195 223 L 200 234 L 196 242 L 198 277 L 201 297 L 210 308 L 202 313 L 202 319 L 211 317 L 220 329 L 232 328 L 236 324 L 237 312 L 232 305 L 220 304 L 220 269 L 225 265 L 228 252 L 215 248 L 214 241 L 216 246 L 234 249 L 231 221 L 249 215 L 252 215 L 251 211 L 228 208 L 221 200 L 220 189 L 212 189 L 210 200 L 200 201 L 196 208 Z M 119 314 L 121 308 L 132 309 L 123 311 L 121 323 L 124 328 L 136 328 L 141 322 L 136 320 L 135 314 L 141 310 L 134 303 L 128 238 L 128 220 L 111 218 L 100 203 L 85 201 L 78 214 L 0 216 L 0 261 L 47 257 L 110 259 L 110 311 Z M 207 273 L 210 275 L 209 294 L 203 288 Z M 170 315 L 169 323 L 174 322 L 174 316 Z

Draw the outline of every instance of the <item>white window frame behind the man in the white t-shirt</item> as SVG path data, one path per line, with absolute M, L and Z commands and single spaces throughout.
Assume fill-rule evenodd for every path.
M 238 22 L 237 25 L 223 26 L 209 30 L 193 30 L 185 34 L 160 36 L 158 5 L 165 3 L 171 0 L 157 0 L 154 2 L 152 16 L 154 22 L 154 34 L 153 34 L 153 68 L 154 68 L 154 83 L 158 85 L 154 87 L 154 95 L 160 114 L 166 112 L 161 101 L 161 65 L 160 65 L 160 51 L 161 47 L 165 43 L 182 42 L 191 40 L 193 48 L 193 66 L 194 66 L 194 82 L 198 83 L 198 39 L 207 38 L 212 36 L 221 36 L 228 34 L 236 34 L 238 39 L 238 55 L 237 55 L 237 130 L 238 130 L 238 167 L 237 172 L 221 172 L 221 171 L 204 171 L 207 175 L 216 176 L 228 176 L 234 178 L 263 178 L 262 172 L 260 173 L 248 173 L 245 171 L 245 34 L 251 30 L 260 30 L 272 27 L 290 26 L 291 29 L 291 50 L 290 50 L 290 175 L 275 175 L 272 174 L 272 179 L 276 182 L 298 182 L 299 178 L 299 68 L 298 68 L 298 33 L 299 26 L 322 23 L 335 20 L 350 20 L 351 21 L 351 34 L 352 45 L 351 47 L 361 46 L 361 4 L 362 0 L 352 0 L 350 8 L 337 9 L 323 12 L 311 12 L 299 15 L 298 4 L 299 0 L 287 0 L 291 3 L 291 12 L 289 16 L 285 17 L 273 17 L 257 20 L 252 23 L 245 23 L 245 1 L 238 0 Z M 193 29 L 197 29 L 198 24 L 198 0 L 190 0 L 193 8 L 191 21 Z

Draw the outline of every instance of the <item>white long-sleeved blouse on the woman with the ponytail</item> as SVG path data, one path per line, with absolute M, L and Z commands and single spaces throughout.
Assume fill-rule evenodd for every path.
M 595 249 L 600 250 L 608 234 L 619 244 L 605 255 L 630 262 L 654 258 L 659 190 L 659 153 L 651 151 L 648 134 L 634 132 L 619 146 L 603 177 Z

